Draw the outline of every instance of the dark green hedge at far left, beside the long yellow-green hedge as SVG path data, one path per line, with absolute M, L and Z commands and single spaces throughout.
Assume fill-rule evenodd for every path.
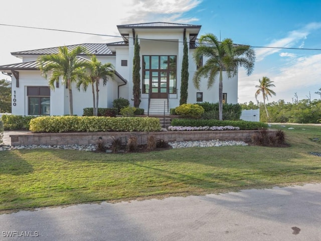
M 5 130 L 29 130 L 30 121 L 38 116 L 4 114 L 1 119 Z

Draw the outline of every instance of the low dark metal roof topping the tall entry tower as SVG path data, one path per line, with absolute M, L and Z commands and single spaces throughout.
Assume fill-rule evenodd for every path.
M 165 23 L 165 22 L 154 22 L 154 23 L 144 23 L 144 24 L 126 24 L 126 25 L 117 25 L 118 29 L 129 29 L 129 28 L 141 28 L 141 29 L 157 29 L 157 28 L 201 28 L 201 25 L 192 25 L 192 24 L 175 24 L 175 23 Z

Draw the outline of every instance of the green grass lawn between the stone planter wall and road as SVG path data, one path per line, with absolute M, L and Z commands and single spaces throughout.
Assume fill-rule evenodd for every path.
M 320 137 L 321 127 L 286 125 L 283 130 L 288 148 L 116 155 L 45 149 L 0 152 L 0 210 L 321 182 L 321 158 L 309 154 L 321 152 L 321 144 L 311 141 Z

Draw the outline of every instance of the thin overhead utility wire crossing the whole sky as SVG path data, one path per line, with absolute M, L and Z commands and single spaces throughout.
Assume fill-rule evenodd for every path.
M 18 28 L 27 28 L 27 29 L 39 29 L 39 30 L 59 31 L 59 32 L 75 33 L 75 34 L 87 34 L 87 35 L 96 35 L 96 36 L 104 36 L 104 37 L 122 38 L 122 36 L 116 36 L 116 35 L 94 34 L 94 33 L 78 32 L 78 31 L 71 31 L 71 30 L 29 27 L 29 26 L 12 25 L 12 24 L 0 24 L 0 26 L 18 27 Z M 133 37 L 128 37 L 128 39 L 133 39 Z M 159 42 L 176 42 L 177 43 L 177 41 L 171 41 L 171 40 L 144 39 L 144 38 L 139 38 L 139 39 L 150 40 L 150 41 L 159 41 Z M 246 45 L 246 44 L 235 44 L 235 45 L 241 45 L 242 46 L 242 45 Z M 252 47 L 252 48 L 269 48 L 269 49 L 292 49 L 292 50 L 318 50 L 318 51 L 321 50 L 321 49 L 309 49 L 309 48 L 289 48 L 289 47 L 287 48 L 287 47 L 272 47 L 272 46 L 250 46 L 250 47 Z

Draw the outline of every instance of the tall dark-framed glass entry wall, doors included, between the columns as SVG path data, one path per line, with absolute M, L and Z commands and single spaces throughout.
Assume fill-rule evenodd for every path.
M 142 58 L 142 93 L 170 93 L 177 91 L 176 56 L 144 55 Z

